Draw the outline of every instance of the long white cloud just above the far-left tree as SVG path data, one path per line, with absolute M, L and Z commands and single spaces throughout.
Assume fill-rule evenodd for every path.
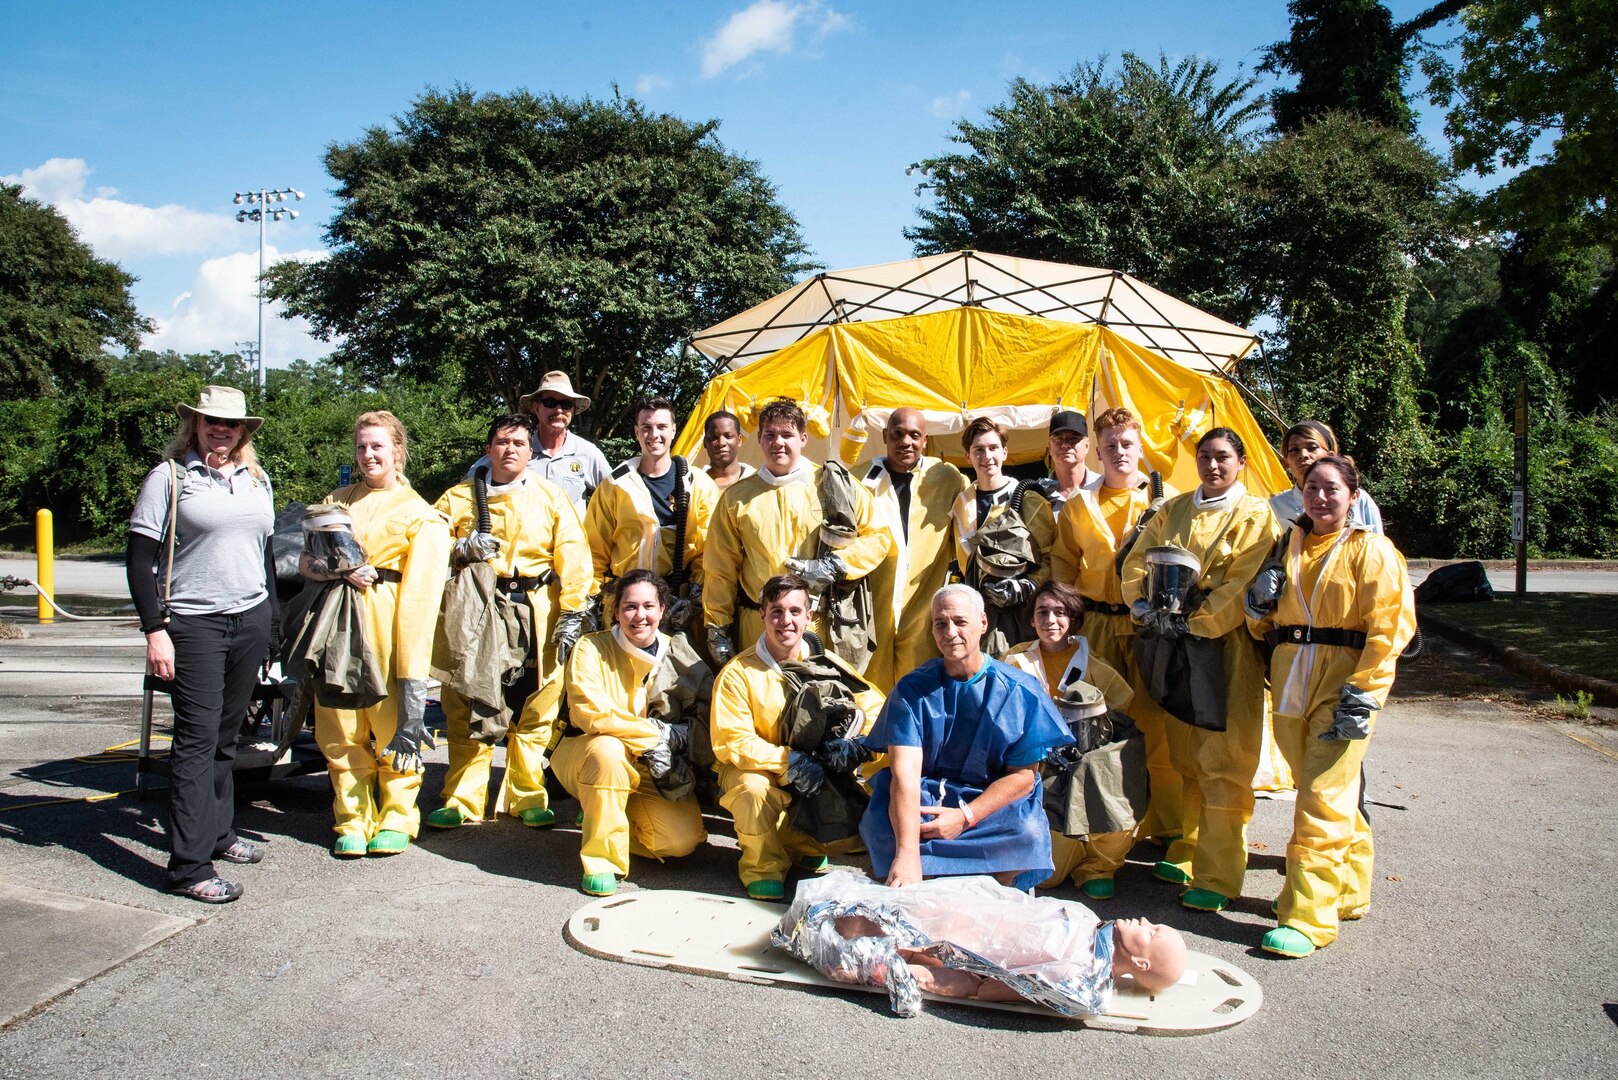
M 184 206 L 141 206 L 115 199 L 116 188 L 95 188 L 86 198 L 91 175 L 81 157 L 52 157 L 39 168 L 24 168 L 5 183 L 23 185 L 29 198 L 61 212 L 79 240 L 104 259 L 125 262 L 154 254 L 183 254 L 233 246 L 236 220 L 228 214 L 204 214 Z

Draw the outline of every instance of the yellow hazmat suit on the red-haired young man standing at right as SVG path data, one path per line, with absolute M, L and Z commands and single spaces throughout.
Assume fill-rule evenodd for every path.
M 1168 487 L 1165 494 L 1175 492 Z M 1102 479 L 1086 484 L 1057 517 L 1057 542 L 1050 552 L 1050 575 L 1084 596 L 1084 636 L 1097 657 L 1123 672 L 1134 691 L 1129 717 L 1146 737 L 1146 769 L 1152 777 L 1152 805 L 1136 831 L 1142 837 L 1173 837 L 1180 832 L 1183 803 L 1180 771 L 1168 758 L 1168 722 L 1146 691 L 1134 662 L 1134 622 L 1125 607 L 1123 580 L 1115 560 L 1118 547 L 1134 528 L 1152 494 L 1146 481 L 1134 487 L 1107 487 Z

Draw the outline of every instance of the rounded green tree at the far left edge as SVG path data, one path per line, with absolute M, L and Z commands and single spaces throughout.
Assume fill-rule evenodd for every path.
M 133 283 L 53 209 L 0 185 L 0 393 L 95 384 L 107 345 L 139 348 L 152 325 Z

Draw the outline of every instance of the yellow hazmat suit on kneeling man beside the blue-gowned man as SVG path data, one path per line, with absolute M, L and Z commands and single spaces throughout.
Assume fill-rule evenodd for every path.
M 743 481 L 744 483 L 744 481 Z M 799 654 L 807 651 L 799 644 Z M 827 653 L 828 661 L 849 674 L 853 669 Z M 854 695 L 864 735 L 882 712 L 882 695 L 870 688 Z M 736 821 L 741 848 L 741 884 L 781 881 L 794 857 L 832 855 L 854 850 L 859 837 L 824 845 L 788 827 L 786 808 L 793 792 L 786 787 L 788 717 L 786 677 L 770 656 L 764 638 L 736 654 L 714 680 L 714 756 L 718 758 L 720 805 Z

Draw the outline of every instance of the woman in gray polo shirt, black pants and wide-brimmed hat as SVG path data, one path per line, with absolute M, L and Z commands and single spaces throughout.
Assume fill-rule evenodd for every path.
M 236 836 L 235 761 L 275 620 L 270 481 L 252 452 L 264 423 L 233 387 L 202 387 L 129 517 L 129 594 L 146 633 L 146 669 L 170 680 L 168 891 L 227 904 L 241 886 L 214 861 L 256 863 Z M 172 563 L 170 563 L 172 559 Z

